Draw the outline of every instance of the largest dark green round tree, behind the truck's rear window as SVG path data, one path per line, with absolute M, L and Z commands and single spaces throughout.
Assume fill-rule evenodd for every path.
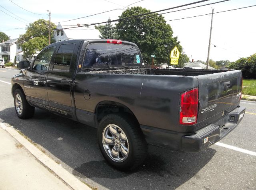
M 132 7 L 122 12 L 120 19 L 151 12 L 142 7 Z M 173 37 L 173 31 L 166 24 L 162 15 L 150 14 L 121 20 L 116 24 L 120 39 L 134 42 L 138 45 L 144 62 L 151 63 L 151 55 L 156 55 L 156 63 L 170 63 L 170 51 L 177 46 L 182 52 L 178 37 Z

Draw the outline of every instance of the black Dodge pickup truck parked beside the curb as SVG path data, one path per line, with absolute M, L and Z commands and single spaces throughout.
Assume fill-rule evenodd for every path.
M 12 78 L 17 116 L 34 108 L 98 128 L 112 166 L 129 170 L 148 143 L 198 152 L 242 120 L 241 71 L 146 69 L 136 44 L 68 40 L 45 47 Z

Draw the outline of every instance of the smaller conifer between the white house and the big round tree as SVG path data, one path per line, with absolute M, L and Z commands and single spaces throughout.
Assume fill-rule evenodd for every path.
M 105 25 L 95 25 L 94 28 L 100 31 L 101 36 L 100 39 L 119 39 L 119 35 L 117 34 L 116 27 L 113 27 L 111 24 L 111 19 L 108 18 L 108 23 Z

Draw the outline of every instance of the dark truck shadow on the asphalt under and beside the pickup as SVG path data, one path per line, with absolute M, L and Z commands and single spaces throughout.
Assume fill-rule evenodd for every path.
M 200 178 L 198 171 L 216 153 L 211 148 L 190 154 L 149 145 L 147 158 L 137 170 L 121 172 L 102 157 L 95 128 L 39 109 L 33 118 L 24 120 L 18 119 L 14 108 L 6 108 L 0 118 L 67 165 L 74 175 L 113 190 L 176 189 L 192 177 Z

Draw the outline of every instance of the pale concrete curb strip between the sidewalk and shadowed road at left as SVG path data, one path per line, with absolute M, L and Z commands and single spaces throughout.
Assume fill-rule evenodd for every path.
M 59 178 L 68 184 L 74 190 L 91 190 L 86 184 L 78 180 L 74 175 L 70 174 L 67 170 L 62 168 L 47 155 L 42 153 L 32 143 L 25 139 L 13 127 L 8 127 L 5 123 L 0 123 L 0 127 L 6 130 L 12 137 L 14 137 L 20 144 L 22 144 L 34 157 L 42 162 L 46 167 L 52 170 Z

